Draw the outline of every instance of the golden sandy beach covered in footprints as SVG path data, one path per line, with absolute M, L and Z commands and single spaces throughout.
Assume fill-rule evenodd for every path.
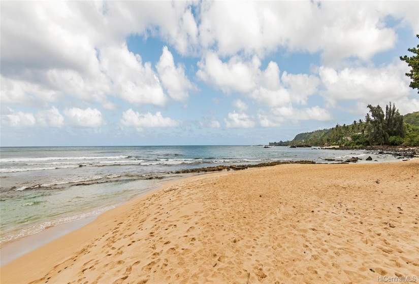
M 287 164 L 188 177 L 4 265 L 0 279 L 419 281 L 418 176 L 419 159 Z

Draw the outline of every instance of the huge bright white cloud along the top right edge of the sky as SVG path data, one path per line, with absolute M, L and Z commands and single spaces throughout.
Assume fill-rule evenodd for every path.
M 264 57 L 284 47 L 320 51 L 328 62 L 350 56 L 368 60 L 397 40 L 395 29 L 385 27 L 386 17 L 402 19 L 417 32 L 418 8 L 412 1 L 215 1 L 201 7 L 200 40 L 204 47 L 216 46 L 220 55 L 244 51 Z

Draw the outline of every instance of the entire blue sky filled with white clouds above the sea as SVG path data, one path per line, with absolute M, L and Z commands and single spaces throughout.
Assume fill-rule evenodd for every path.
M 1 1 L 0 145 L 258 145 L 419 111 L 418 1 Z

